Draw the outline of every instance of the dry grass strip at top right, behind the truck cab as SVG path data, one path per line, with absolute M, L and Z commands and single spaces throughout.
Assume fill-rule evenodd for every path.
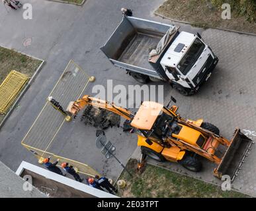
M 191 22 L 201 28 L 220 27 L 256 34 L 255 21 L 249 22 L 233 6 L 231 19 L 224 20 L 221 7 L 212 5 L 210 0 L 167 0 L 155 12 L 175 20 Z

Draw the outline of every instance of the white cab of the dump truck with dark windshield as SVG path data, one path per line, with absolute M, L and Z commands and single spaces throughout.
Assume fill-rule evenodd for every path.
M 175 81 L 175 88 L 179 90 L 180 87 L 179 92 L 187 92 L 183 93 L 185 95 L 196 92 L 200 84 L 208 80 L 211 67 L 217 63 L 218 58 L 202 38 L 189 32 L 180 32 L 160 61 L 165 74 Z

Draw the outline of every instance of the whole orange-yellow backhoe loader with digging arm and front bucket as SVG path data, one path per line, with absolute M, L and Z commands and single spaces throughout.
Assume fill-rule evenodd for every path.
M 113 103 L 85 95 L 69 103 L 67 119 L 77 115 L 87 105 L 107 109 L 124 117 L 138 135 L 138 146 L 141 147 L 143 158 L 149 156 L 159 162 L 178 162 L 191 171 L 200 171 L 202 164 L 198 160 L 199 155 L 218 164 L 214 175 L 219 179 L 222 175 L 230 175 L 230 179 L 234 180 L 253 144 L 238 128 L 232 140 L 227 140 L 219 134 L 216 126 L 205 123 L 203 119 L 183 119 L 177 113 L 177 106 L 169 108 L 157 102 L 143 102 L 134 114 Z M 221 146 L 224 146 L 224 155 L 217 156 Z

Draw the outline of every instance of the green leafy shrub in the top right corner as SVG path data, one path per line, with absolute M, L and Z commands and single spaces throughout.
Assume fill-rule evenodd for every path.
M 221 9 L 224 3 L 229 3 L 232 11 L 237 15 L 245 16 L 249 22 L 256 22 L 255 0 L 212 0 L 212 4 L 218 9 Z

